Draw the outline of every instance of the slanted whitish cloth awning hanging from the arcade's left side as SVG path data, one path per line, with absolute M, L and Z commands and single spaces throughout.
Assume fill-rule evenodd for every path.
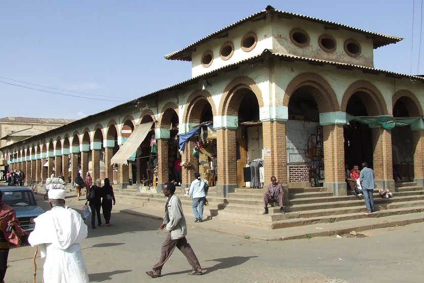
M 134 131 L 112 157 L 111 164 L 128 164 L 128 158 L 137 150 L 143 140 L 146 138 L 154 122 L 143 123 L 135 126 Z

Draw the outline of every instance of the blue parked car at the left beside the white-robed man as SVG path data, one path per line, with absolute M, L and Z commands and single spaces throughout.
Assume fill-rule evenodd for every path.
M 28 233 L 34 230 L 34 218 L 44 213 L 37 203 L 34 193 L 25 186 L 1 186 L 3 202 L 15 209 L 22 229 Z

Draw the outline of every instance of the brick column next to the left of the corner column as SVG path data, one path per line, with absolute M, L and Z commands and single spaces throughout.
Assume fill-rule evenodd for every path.
M 216 130 L 218 181 L 216 195 L 227 197 L 237 188 L 237 156 L 235 150 L 235 129 Z

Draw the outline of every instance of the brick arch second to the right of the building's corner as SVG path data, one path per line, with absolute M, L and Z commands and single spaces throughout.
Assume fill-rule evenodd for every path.
M 372 83 L 365 80 L 358 80 L 352 83 L 345 91 L 340 106 L 340 110 L 346 112 L 349 99 L 355 92 L 363 91 L 368 97 L 361 98 L 369 116 L 387 115 L 387 105 L 380 90 Z

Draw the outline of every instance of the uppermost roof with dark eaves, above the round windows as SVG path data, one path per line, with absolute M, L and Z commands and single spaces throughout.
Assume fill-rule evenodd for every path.
M 369 38 L 372 38 L 374 49 L 379 48 L 379 47 L 384 46 L 384 45 L 387 45 L 387 44 L 396 43 L 396 42 L 403 39 L 403 37 L 399 37 L 399 36 L 387 35 L 387 34 L 383 34 L 383 33 L 376 33 L 376 32 L 372 32 L 372 31 L 367 31 L 367 30 L 351 27 L 351 26 L 344 25 L 344 24 L 339 24 L 339 23 L 332 22 L 332 21 L 326 21 L 326 20 L 321 20 L 321 19 L 318 19 L 318 18 L 313 18 L 313 17 L 304 16 L 304 15 L 300 15 L 300 14 L 275 10 L 272 6 L 267 6 L 265 8 L 265 10 L 263 10 L 259 13 L 255 13 L 255 14 L 247 17 L 247 18 L 241 19 L 241 20 L 239 20 L 239 21 L 237 21 L 237 22 L 235 22 L 235 23 L 233 23 L 229 26 L 226 26 L 226 27 L 224 27 L 224 28 L 222 28 L 218 31 L 215 31 L 214 33 L 211 33 L 208 36 L 203 37 L 202 39 L 196 41 L 195 43 L 190 44 L 189 46 L 187 46 L 187 47 L 185 47 L 185 48 L 183 48 L 179 51 L 165 55 L 164 57 L 165 57 L 165 59 L 168 59 L 168 60 L 191 61 L 192 60 L 192 51 L 193 51 L 193 49 L 195 48 L 196 45 L 199 45 L 200 43 L 202 43 L 203 41 L 206 41 L 209 38 L 219 36 L 220 33 L 224 33 L 225 31 L 227 31 L 229 29 L 235 28 L 235 27 L 237 27 L 238 25 L 241 25 L 244 22 L 264 17 L 268 13 L 274 13 L 274 14 L 276 13 L 281 18 L 298 18 L 298 19 L 302 19 L 302 20 L 307 20 L 307 21 L 311 21 L 311 22 L 325 24 L 327 26 L 331 26 L 331 27 L 334 27 L 334 28 L 341 28 L 341 29 L 345 29 L 345 30 L 349 30 L 349 31 L 363 33 L 363 34 L 367 35 Z

